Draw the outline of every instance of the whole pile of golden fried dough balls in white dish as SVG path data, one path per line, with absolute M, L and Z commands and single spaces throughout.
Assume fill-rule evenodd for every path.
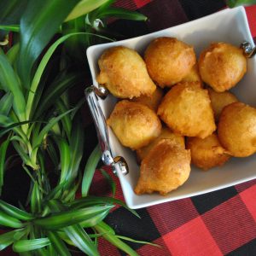
M 155 38 L 143 57 L 117 46 L 98 63 L 98 83 L 120 99 L 107 123 L 137 152 L 137 195 L 177 189 L 190 163 L 208 170 L 255 153 L 256 109 L 227 91 L 247 72 L 242 49 L 214 43 L 197 61 L 193 46 Z

